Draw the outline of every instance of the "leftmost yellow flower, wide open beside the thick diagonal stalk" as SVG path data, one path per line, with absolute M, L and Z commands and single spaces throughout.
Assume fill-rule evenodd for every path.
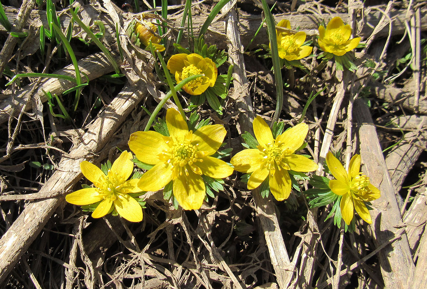
M 132 153 L 126 150 L 120 154 L 105 175 L 96 165 L 83 161 L 80 169 L 83 175 L 94 183 L 94 188 L 81 189 L 65 196 L 68 203 L 74 205 L 89 205 L 99 203 L 92 217 L 105 216 L 114 205 L 120 216 L 131 222 L 142 220 L 142 208 L 129 193 L 141 192 L 137 187 L 139 179 L 127 180 L 133 171 Z

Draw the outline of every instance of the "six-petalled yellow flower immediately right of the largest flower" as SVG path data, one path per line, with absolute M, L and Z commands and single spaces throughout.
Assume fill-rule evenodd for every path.
M 317 165 L 305 156 L 294 154 L 304 143 L 308 133 L 307 124 L 301 123 L 282 133 L 276 139 L 266 122 L 257 116 L 253 122 L 257 149 L 246 149 L 237 153 L 231 164 L 236 171 L 250 173 L 248 189 L 252 190 L 269 177 L 270 191 L 278 201 L 287 199 L 291 192 L 288 171 L 308 172 Z

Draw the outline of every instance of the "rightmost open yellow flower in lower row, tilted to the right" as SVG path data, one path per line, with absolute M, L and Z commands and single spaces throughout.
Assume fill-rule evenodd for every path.
M 364 202 L 370 202 L 380 198 L 380 190 L 375 188 L 369 178 L 360 172 L 360 155 L 355 154 L 348 168 L 348 173 L 341 162 L 331 152 L 326 155 L 326 164 L 336 180 L 329 181 L 330 190 L 336 195 L 342 196 L 341 215 L 345 224 L 349 225 L 354 216 L 354 209 L 360 218 L 372 224 L 371 215 Z

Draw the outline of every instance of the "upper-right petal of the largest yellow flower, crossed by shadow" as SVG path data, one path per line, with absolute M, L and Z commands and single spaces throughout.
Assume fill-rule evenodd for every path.
M 193 133 L 193 145 L 200 151 L 206 151 L 208 156 L 216 153 L 222 145 L 227 131 L 222 124 L 205 125 Z

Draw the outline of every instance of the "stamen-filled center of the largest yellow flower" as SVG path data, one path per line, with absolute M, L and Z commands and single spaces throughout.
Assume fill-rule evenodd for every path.
M 201 169 L 196 165 L 196 162 L 203 162 L 201 159 L 204 156 L 202 151 L 199 151 L 199 144 L 192 144 L 193 132 L 188 132 L 183 140 L 176 140 L 170 137 L 167 138 L 167 145 L 169 149 L 163 151 L 159 155 L 159 159 L 164 161 L 165 164 L 172 165 L 172 178 L 185 174 L 189 175 L 189 169 L 196 174 L 201 175 Z

